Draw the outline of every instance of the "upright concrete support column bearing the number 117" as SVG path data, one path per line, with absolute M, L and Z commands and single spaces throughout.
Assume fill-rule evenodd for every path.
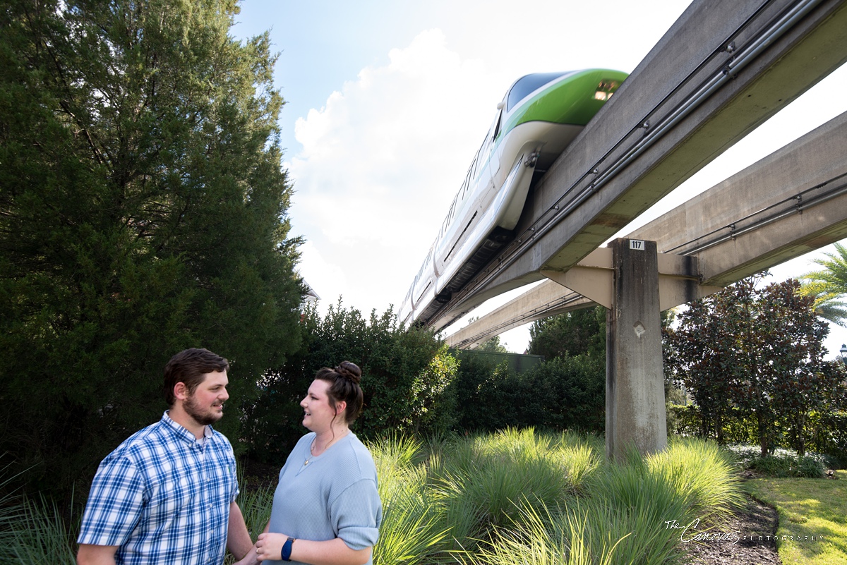
M 606 313 L 606 456 L 667 446 L 656 242 L 616 239 Z

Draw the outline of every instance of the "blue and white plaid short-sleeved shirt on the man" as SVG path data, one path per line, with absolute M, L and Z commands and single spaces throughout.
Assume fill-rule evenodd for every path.
M 77 541 L 119 546 L 118 565 L 220 565 L 236 496 L 226 437 L 197 440 L 165 412 L 102 460 Z

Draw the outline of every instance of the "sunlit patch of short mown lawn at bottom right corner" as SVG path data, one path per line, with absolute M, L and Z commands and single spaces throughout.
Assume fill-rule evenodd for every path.
M 847 470 L 838 480 L 753 479 L 745 490 L 779 514 L 783 565 L 847 564 Z

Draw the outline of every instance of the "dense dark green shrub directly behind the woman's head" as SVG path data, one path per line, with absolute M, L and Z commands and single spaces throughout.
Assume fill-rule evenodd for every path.
M 300 401 L 321 367 L 350 360 L 362 369 L 364 409 L 354 424 L 362 436 L 386 432 L 446 431 L 455 408 L 446 388 L 457 361 L 435 332 L 398 325 L 393 310 L 365 318 L 339 300 L 322 318 L 314 306 L 302 317 L 303 343 L 285 363 L 269 370 L 262 395 L 246 420 L 251 457 L 285 463 L 294 443 L 307 432 Z

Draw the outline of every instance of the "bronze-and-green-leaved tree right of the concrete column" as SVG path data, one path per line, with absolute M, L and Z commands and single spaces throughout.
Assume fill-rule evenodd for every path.
M 810 414 L 840 389 L 838 368 L 823 360 L 828 326 L 796 280 L 756 288 L 747 278 L 689 304 L 667 330 L 665 362 L 697 404 L 700 432 L 722 431 L 729 414 L 755 423 L 764 456 L 781 429 L 805 453 Z

